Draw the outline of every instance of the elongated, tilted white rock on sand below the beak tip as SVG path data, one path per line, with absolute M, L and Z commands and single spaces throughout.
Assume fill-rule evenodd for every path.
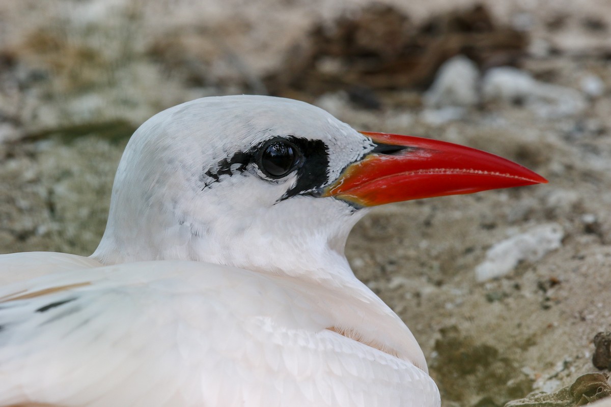
M 486 281 L 511 272 L 521 261 L 535 262 L 562 246 L 565 233 L 558 223 L 536 226 L 494 244 L 486 260 L 475 268 L 477 281 Z

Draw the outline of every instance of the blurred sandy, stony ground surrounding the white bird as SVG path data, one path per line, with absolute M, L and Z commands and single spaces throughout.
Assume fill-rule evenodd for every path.
M 349 239 L 444 406 L 608 372 L 611 336 L 593 338 L 611 330 L 611 2 L 2 0 L 0 253 L 92 253 L 137 126 L 236 93 L 486 149 L 550 180 L 381 207 Z

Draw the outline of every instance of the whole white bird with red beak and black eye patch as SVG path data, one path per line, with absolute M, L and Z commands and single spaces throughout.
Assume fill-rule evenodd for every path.
M 348 233 L 381 204 L 544 182 L 292 99 L 170 107 L 126 145 L 91 256 L 0 256 L 0 406 L 439 407 Z

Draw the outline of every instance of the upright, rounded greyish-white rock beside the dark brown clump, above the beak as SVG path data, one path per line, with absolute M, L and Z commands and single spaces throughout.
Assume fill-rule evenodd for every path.
M 424 95 L 429 107 L 472 106 L 479 101 L 477 85 L 480 71 L 475 62 L 459 55 L 448 59 Z

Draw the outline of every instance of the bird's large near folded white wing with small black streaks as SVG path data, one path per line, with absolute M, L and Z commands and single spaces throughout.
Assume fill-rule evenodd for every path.
M 296 284 L 171 261 L 0 289 L 0 406 L 439 406 L 430 376 L 327 329 L 332 298 Z

